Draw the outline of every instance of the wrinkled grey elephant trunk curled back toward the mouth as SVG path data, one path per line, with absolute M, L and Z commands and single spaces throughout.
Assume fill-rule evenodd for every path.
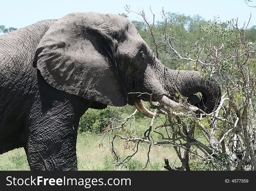
M 198 107 L 206 113 L 214 110 L 220 101 L 221 89 L 213 78 L 203 79 L 196 71 L 171 70 L 166 67 L 164 70 L 164 89 L 170 99 L 177 97 L 177 94 L 189 97 L 200 92 L 202 99 Z

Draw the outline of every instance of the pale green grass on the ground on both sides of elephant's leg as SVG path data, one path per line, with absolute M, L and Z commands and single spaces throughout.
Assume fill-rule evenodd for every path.
M 77 137 L 77 159 L 79 170 L 113 170 L 115 160 L 109 147 L 99 148 L 98 136 L 93 133 L 81 133 Z M 124 149 L 123 141 L 119 140 L 118 153 L 122 157 L 133 153 L 131 150 Z M 142 170 L 147 162 L 148 145 L 142 147 L 138 153 L 121 170 Z M 163 157 L 169 161 L 175 160 L 175 152 L 172 148 L 153 147 L 150 151 L 150 164 L 145 170 L 165 170 L 163 168 Z M 15 149 L 0 155 L 0 170 L 29 170 L 26 154 L 23 148 Z M 116 169 L 120 170 L 120 169 Z

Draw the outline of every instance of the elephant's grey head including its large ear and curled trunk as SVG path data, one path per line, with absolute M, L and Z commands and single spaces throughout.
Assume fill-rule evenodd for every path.
M 151 94 L 152 101 L 170 106 L 181 94 L 209 113 L 221 96 L 212 78 L 165 67 L 120 15 L 71 13 L 58 19 L 41 39 L 34 66 L 49 85 L 91 100 L 98 109 L 149 101 Z M 197 92 L 201 100 L 193 96 Z

